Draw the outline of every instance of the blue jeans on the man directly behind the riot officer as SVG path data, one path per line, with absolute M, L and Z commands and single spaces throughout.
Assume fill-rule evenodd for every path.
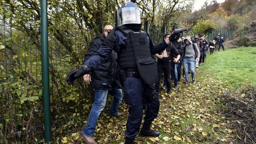
M 98 117 L 101 114 L 105 107 L 105 103 L 107 101 L 108 90 L 95 88 L 95 97 L 94 103 L 92 104 L 91 112 L 89 113 L 87 125 L 82 130 L 86 136 L 93 137 L 94 131 L 96 129 Z M 110 114 L 116 115 L 118 112 L 118 106 L 123 99 L 123 94 L 121 89 L 117 88 L 116 85 L 112 85 L 112 89 L 110 91 L 111 95 L 114 96 L 114 100 L 112 101 Z

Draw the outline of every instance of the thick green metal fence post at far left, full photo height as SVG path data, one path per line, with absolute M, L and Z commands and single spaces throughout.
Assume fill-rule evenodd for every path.
M 49 94 L 49 57 L 48 57 L 48 31 L 47 31 L 47 0 L 40 0 L 41 7 L 41 66 L 43 80 L 43 116 L 44 116 L 44 140 L 49 143 L 52 139 L 50 124 L 50 94 Z

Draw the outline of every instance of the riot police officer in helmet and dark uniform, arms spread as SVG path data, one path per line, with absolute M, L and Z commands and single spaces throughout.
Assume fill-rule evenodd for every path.
M 159 111 L 159 99 L 153 83 L 157 69 L 153 55 L 162 52 L 169 39 L 154 46 L 149 35 L 141 29 L 140 11 L 133 2 L 122 5 L 118 10 L 118 25 L 104 40 L 100 49 L 84 62 L 77 71 L 68 74 L 66 81 L 72 83 L 76 78 L 97 68 L 111 54 L 117 53 L 117 63 L 123 83 L 124 101 L 129 107 L 126 123 L 125 143 L 134 143 L 137 133 L 141 136 L 159 136 L 151 130 L 152 121 Z M 140 130 L 143 116 L 143 104 L 146 104 L 144 123 Z

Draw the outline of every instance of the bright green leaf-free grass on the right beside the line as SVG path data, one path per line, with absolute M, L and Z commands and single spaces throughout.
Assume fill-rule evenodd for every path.
M 256 47 L 220 50 L 210 55 L 200 66 L 204 75 L 215 76 L 231 88 L 241 85 L 256 86 Z

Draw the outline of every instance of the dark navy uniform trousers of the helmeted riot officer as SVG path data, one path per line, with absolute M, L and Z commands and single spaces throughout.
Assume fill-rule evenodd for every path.
M 124 100 L 129 107 L 126 123 L 126 137 L 135 139 L 140 130 L 143 104 L 146 104 L 144 123 L 151 124 L 158 116 L 159 99 L 153 85 L 147 85 L 140 78 L 127 77 L 124 81 Z

